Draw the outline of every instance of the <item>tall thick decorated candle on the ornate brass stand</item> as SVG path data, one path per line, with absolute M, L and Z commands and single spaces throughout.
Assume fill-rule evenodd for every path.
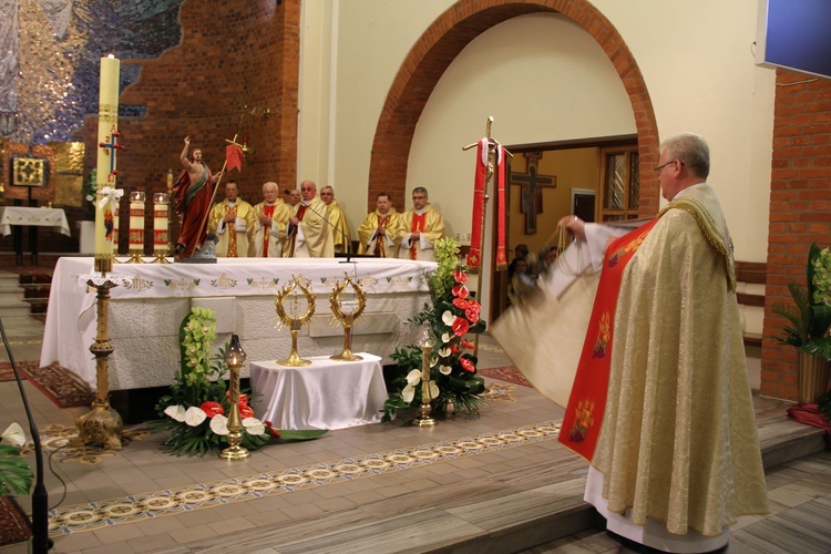
M 95 270 L 111 271 L 115 244 L 115 152 L 119 130 L 119 73 L 121 63 L 113 55 L 101 59 L 99 85 L 99 152 L 95 186 Z

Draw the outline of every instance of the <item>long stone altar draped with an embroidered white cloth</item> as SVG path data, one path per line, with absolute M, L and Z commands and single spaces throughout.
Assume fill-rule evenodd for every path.
M 193 306 L 217 312 L 216 346 L 239 335 L 249 360 L 288 357 L 291 334 L 283 328 L 274 298 L 294 275 L 311 283 L 317 310 L 304 326 L 300 356 L 331 356 L 343 348 L 343 328 L 331 315 L 329 295 L 345 271 L 367 294 L 363 315 L 352 328 L 352 351 L 372 352 L 391 362 L 396 348 L 418 341 L 407 320 L 430 301 L 425 271 L 432 261 L 339 259 L 219 258 L 217 264 L 115 264 L 113 276 L 126 279 L 111 289 L 110 389 L 130 390 L 173 383 L 179 367 L 178 330 Z M 40 362 L 59 362 L 95 387 L 95 291 L 82 276 L 92 258 L 58 260 Z M 248 365 L 242 377 L 249 376 Z

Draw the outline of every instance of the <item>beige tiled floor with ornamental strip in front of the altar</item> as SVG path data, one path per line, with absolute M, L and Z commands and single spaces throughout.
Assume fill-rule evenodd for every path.
M 17 360 L 39 357 L 42 324 L 32 321 L 7 329 Z M 507 363 L 483 338 L 480 366 Z M 533 389 L 489 382 L 494 399 L 479 417 L 458 414 L 433 429 L 334 431 L 269 444 L 234 463 L 163 454 L 160 435 L 133 428 L 134 440 L 117 453 L 58 448 L 88 409 L 59 409 L 27 382 L 50 454 L 53 552 L 424 552 L 441 544 L 464 551 L 465 536 L 499 527 L 506 513 L 582 504 L 585 463 L 554 440 L 561 410 Z M 17 384 L 0 383 L 0 424 L 22 418 Z M 796 552 L 794 541 L 802 542 L 799 552 L 831 550 L 829 458 L 822 452 L 770 472 L 773 513 L 742 520 L 730 552 Z M 492 551 L 511 550 L 496 534 L 493 541 Z M 620 547 L 583 532 L 532 552 Z

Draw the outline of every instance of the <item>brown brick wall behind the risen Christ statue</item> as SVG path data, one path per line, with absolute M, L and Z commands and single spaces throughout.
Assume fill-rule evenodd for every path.
M 182 41 L 153 60 L 122 60 L 141 65 L 141 76 L 120 98 L 121 104 L 146 107 L 142 117 L 121 117 L 125 150 L 119 155 L 119 186 L 125 193 L 166 191 L 167 170 L 178 175 L 183 138 L 201 148 L 213 172 L 222 168 L 226 140 L 248 137 L 254 150 L 244 173 L 230 176 L 242 196 L 261 201 L 261 185 L 296 182 L 297 91 L 299 79 L 300 0 L 226 0 L 206 4 L 185 1 L 179 11 Z M 244 109 L 247 106 L 247 109 Z M 252 115 L 268 107 L 268 119 Z M 86 165 L 95 166 L 98 117 L 84 122 Z M 222 197 L 222 191 L 217 193 Z M 121 220 L 127 222 L 126 202 Z M 152 252 L 152 219 L 145 242 Z M 174 234 L 177 233 L 174 229 Z M 121 248 L 126 252 L 126 233 Z

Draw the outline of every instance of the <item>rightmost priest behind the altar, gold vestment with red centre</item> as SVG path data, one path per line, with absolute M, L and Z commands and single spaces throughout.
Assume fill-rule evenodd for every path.
M 444 218 L 430 205 L 427 188 L 418 186 L 412 189 L 412 209 L 401 217 L 404 224 L 396 237 L 398 257 L 434 261 L 433 244 L 444 237 Z

